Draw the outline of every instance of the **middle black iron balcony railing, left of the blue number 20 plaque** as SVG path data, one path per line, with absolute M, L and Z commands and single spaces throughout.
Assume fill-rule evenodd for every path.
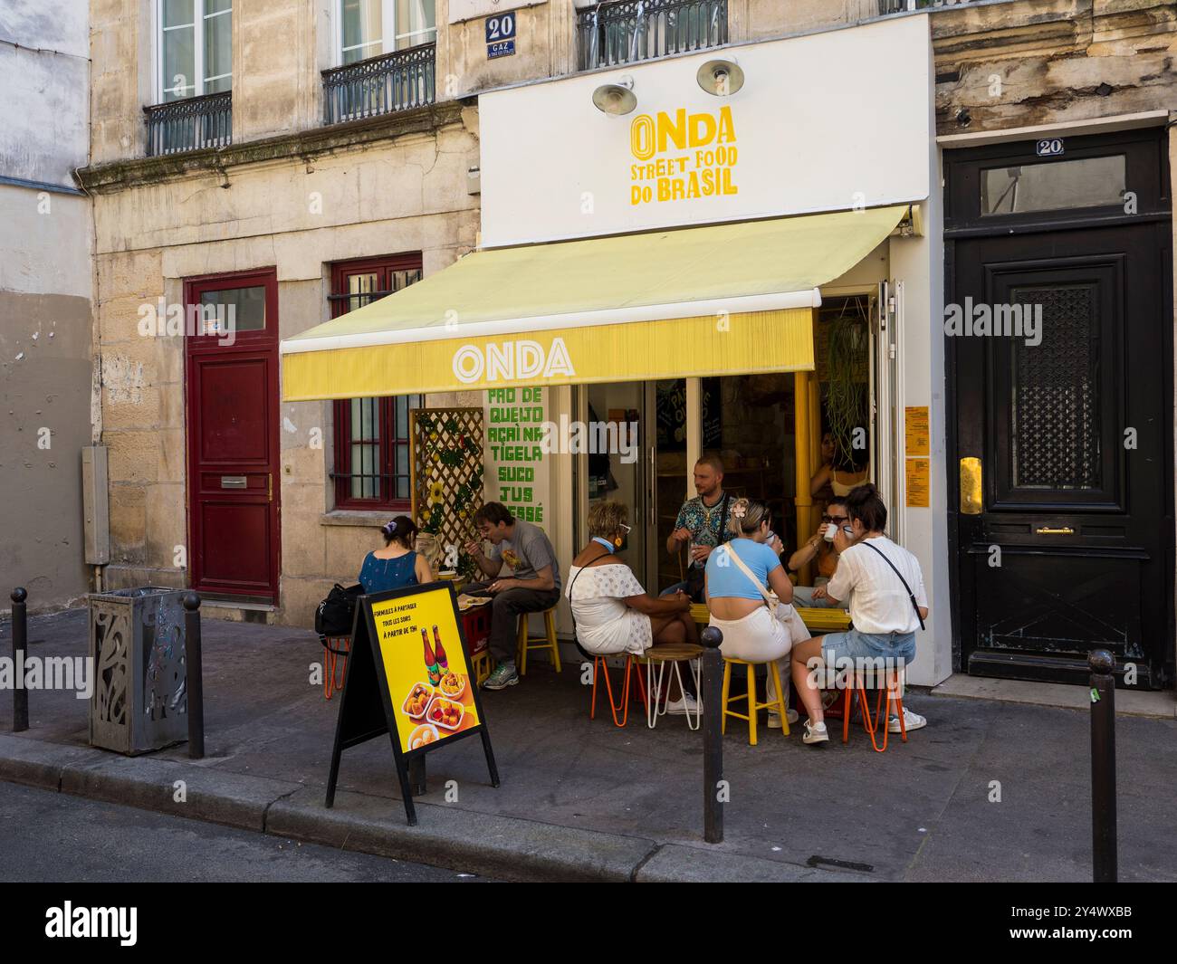
M 424 107 L 437 99 L 435 45 L 373 56 L 322 72 L 324 124 Z

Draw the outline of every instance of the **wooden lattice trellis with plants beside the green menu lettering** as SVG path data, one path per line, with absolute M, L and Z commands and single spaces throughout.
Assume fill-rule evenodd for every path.
M 458 546 L 458 572 L 472 577 L 478 566 L 463 546 L 483 505 L 483 410 L 414 408 L 411 425 L 413 519 L 441 544 L 443 564 Z

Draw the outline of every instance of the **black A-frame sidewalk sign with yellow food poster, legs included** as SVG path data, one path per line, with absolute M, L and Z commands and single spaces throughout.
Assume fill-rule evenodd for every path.
M 479 734 L 491 783 L 499 785 L 452 583 L 360 597 L 327 779 L 328 807 L 343 751 L 385 733 L 410 825 L 417 813 L 408 764 L 447 743 Z

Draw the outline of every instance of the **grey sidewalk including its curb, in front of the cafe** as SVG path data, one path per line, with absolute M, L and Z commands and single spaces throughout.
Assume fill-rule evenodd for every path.
M 751 747 L 734 726 L 725 843 L 712 846 L 700 736 L 681 718 L 650 731 L 640 710 L 625 730 L 607 710 L 590 720 L 576 667 L 537 663 L 484 696 L 503 785 L 490 786 L 478 740 L 439 750 L 410 829 L 384 738 L 344 752 L 335 806 L 324 806 L 339 699 L 310 683 L 322 659 L 313 633 L 206 619 L 204 644 L 206 759 L 185 746 L 135 759 L 93 750 L 72 693 L 31 692 L 31 729 L 12 734 L 4 691 L 0 779 L 506 879 L 1091 878 L 1083 711 L 912 693 L 930 724 L 885 754 L 860 727 L 849 746 L 812 749 L 796 730 L 762 730 Z M 29 620 L 29 654 L 85 649 L 85 610 Z M 1122 717 L 1117 754 L 1121 879 L 1177 880 L 1177 723 Z

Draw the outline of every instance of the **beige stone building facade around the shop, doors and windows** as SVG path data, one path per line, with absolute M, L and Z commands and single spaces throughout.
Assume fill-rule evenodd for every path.
M 228 0 L 207 2 L 206 13 L 228 6 Z M 906 0 L 716 0 L 709 22 L 722 19 L 722 33 L 711 36 L 700 26 L 689 49 L 634 53 L 631 42 L 618 54 L 586 51 L 592 42 L 586 38 L 596 35 L 607 47 L 609 35 L 594 34 L 591 18 L 624 4 L 437 0 L 426 5 L 437 29 L 428 34 L 432 80 L 421 102 L 341 120 L 330 115 L 327 88 L 344 59 L 347 5 L 234 0 L 231 6 L 231 142 L 159 155 L 151 151 L 144 108 L 161 100 L 161 7 L 154 0 L 91 5 L 91 160 L 77 177 L 93 197 L 93 353 L 101 372 L 100 441 L 111 464 L 109 585 L 188 581 L 192 386 L 184 339 L 140 334 L 144 306 L 182 303 L 194 278 L 273 270 L 279 333 L 286 338 L 331 317 L 333 266 L 412 253 L 430 275 L 476 250 L 480 94 L 585 69 L 612 77 L 624 73 L 626 56 L 651 51 L 676 56 L 714 46 L 738 61 L 746 44 L 926 15 L 937 135 L 927 147 L 939 169 L 958 152 L 986 145 L 1133 129 L 1168 131 L 1169 168 L 1177 157 L 1169 114 L 1177 47 L 1172 2 L 982 0 L 915 11 Z M 504 13 L 514 18 L 514 52 L 492 58 L 487 18 Z M 704 35 L 710 39 L 700 45 Z M 931 305 L 931 315 L 942 307 Z M 942 400 L 953 391 L 946 352 L 933 327 L 906 363 L 931 380 Z M 1168 359 L 1171 365 L 1171 351 Z M 446 397 L 426 404 L 454 400 L 478 401 Z M 226 612 L 306 625 L 325 590 L 353 576 L 384 513 L 335 505 L 331 403 L 286 404 L 274 415 L 278 591 L 271 605 L 242 603 Z M 932 453 L 940 463 L 933 488 L 951 506 L 958 493 L 956 466 L 949 464 L 957 454 L 950 415 L 951 408 L 933 411 Z M 1171 415 L 1170 410 L 1170 434 Z M 1172 438 L 1168 446 L 1162 470 L 1171 531 Z M 937 518 L 930 545 L 947 545 L 952 525 L 951 518 Z M 1170 538 L 1169 597 L 1171 544 Z M 1168 610 L 1171 629 L 1172 606 Z M 962 659 L 957 653 L 957 670 Z M 950 671 L 945 663 L 935 676 Z

